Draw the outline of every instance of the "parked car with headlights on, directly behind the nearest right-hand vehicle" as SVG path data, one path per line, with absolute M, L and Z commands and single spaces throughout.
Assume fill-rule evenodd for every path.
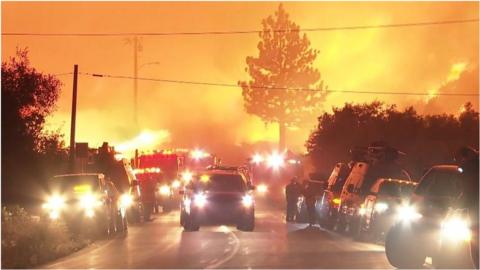
M 395 222 L 395 211 L 410 198 L 416 182 L 380 178 L 360 209 L 358 238 L 380 240 Z

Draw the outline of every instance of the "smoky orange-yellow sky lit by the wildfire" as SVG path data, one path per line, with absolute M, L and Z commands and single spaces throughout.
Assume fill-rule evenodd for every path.
M 2 2 L 3 32 L 194 32 L 252 30 L 277 2 Z M 478 18 L 478 2 L 286 2 L 303 28 Z M 330 89 L 478 92 L 478 23 L 307 33 L 320 51 L 315 62 Z M 245 57 L 256 55 L 258 35 L 143 37 L 141 77 L 236 83 L 247 79 Z M 123 37 L 2 37 L 2 61 L 16 46 L 47 73 L 132 75 L 133 53 Z M 465 73 L 475 74 L 463 76 Z M 71 76 L 62 76 L 58 110 L 49 128 L 70 128 Z M 460 80 L 459 80 L 460 79 Z M 459 81 L 458 87 L 455 86 Z M 469 89 L 460 89 L 469 88 Z M 80 76 L 77 141 L 98 145 L 131 140 L 131 80 Z M 440 90 L 439 90 L 440 89 Z M 276 127 L 243 111 L 241 89 L 139 82 L 141 128 L 170 145 L 204 147 L 223 155 L 242 144 L 275 141 Z M 382 100 L 419 112 L 457 113 L 472 98 L 331 94 L 325 108 Z M 432 105 L 433 101 L 435 104 Z M 478 107 L 478 101 L 475 101 Z M 427 105 L 427 106 L 425 106 Z M 202 122 L 202 124 L 199 124 Z M 314 123 L 290 130 L 291 148 L 302 150 Z M 236 156 L 231 155 L 233 160 Z M 227 158 L 228 160 L 228 158 Z

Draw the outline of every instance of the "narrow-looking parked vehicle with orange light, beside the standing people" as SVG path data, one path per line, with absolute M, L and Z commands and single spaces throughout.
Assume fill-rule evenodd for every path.
M 332 229 L 337 219 L 340 194 L 350 171 L 351 168 L 345 163 L 335 165 L 317 205 L 319 223 L 327 229 Z

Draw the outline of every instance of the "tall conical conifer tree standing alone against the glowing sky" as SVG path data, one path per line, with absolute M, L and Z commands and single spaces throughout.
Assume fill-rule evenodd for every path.
M 262 21 L 258 56 L 246 58 L 249 81 L 239 81 L 247 113 L 279 124 L 279 147 L 285 149 L 287 126 L 295 126 L 319 109 L 326 96 L 313 67 L 318 51 L 300 35 L 282 4 Z M 317 84 L 318 83 L 318 84 Z M 315 88 L 318 91 L 300 90 Z

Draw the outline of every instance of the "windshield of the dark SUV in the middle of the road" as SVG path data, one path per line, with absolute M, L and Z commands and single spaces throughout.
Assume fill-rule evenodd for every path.
M 244 192 L 246 184 L 238 174 L 209 175 L 208 181 L 199 182 L 199 189 L 214 192 Z

